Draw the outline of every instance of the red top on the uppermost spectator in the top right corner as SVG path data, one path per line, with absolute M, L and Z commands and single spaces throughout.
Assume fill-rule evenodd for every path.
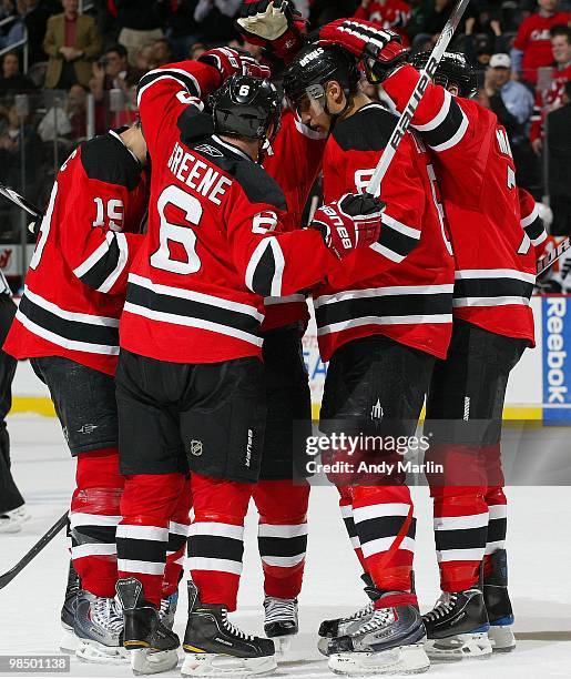
M 523 80 L 538 81 L 538 69 L 551 65 L 550 29 L 558 24 L 571 21 L 571 12 L 557 12 L 551 17 L 542 17 L 539 12 L 531 14 L 521 22 L 513 47 L 523 52 L 521 62 Z

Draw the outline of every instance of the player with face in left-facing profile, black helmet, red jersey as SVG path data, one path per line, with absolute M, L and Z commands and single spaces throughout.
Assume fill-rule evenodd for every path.
M 302 121 L 328 134 L 324 195 L 365 191 L 395 118 L 358 88 L 356 60 L 338 48 L 307 45 L 288 65 L 286 95 Z M 381 186 L 379 244 L 358 252 L 313 291 L 323 361 L 330 361 L 322 428 L 410 436 L 435 358 L 446 356 L 452 322 L 453 260 L 424 145 L 405 135 Z M 381 453 L 361 450 L 385 463 Z M 339 487 L 374 602 L 359 618 L 326 621 L 320 648 L 339 672 L 428 668 L 425 630 L 411 582 L 415 519 L 404 475 L 350 479 Z M 347 636 L 348 635 L 348 636 Z M 328 645 L 327 645 L 328 641 Z

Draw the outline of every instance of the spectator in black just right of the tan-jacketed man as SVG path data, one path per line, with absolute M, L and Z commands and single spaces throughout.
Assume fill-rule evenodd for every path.
M 147 42 L 163 37 L 170 3 L 166 0 L 113 0 L 120 27 L 119 42 L 126 48 L 129 63 Z

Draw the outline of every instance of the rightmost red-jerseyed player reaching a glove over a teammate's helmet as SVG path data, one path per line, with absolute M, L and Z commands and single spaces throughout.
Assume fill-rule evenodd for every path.
M 429 59 L 417 54 L 417 68 L 402 64 L 397 37 L 368 23 L 340 20 L 320 37 L 365 58 L 398 110 Z M 439 84 L 428 84 L 412 128 L 430 149 L 442 189 L 456 283 L 449 354 L 437 363 L 427 401 L 425 433 L 435 434 L 428 455 L 445 463 L 445 474 L 429 478 L 442 596 L 424 619 L 429 655 L 453 659 L 514 646 L 501 416 L 509 373 L 534 343 L 533 243 L 543 235 L 529 196 L 516 186 L 506 131 L 469 99 L 476 79 L 463 55 L 445 54 L 435 78 Z

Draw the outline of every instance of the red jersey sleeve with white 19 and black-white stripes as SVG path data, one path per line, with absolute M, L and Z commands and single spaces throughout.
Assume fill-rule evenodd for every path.
M 61 176 L 69 173 L 68 176 Z M 108 294 L 123 294 L 126 277 L 143 235 L 122 233 L 128 191 L 89 179 L 78 161 L 60 171 L 65 190 L 60 212 L 60 256 L 85 285 Z

